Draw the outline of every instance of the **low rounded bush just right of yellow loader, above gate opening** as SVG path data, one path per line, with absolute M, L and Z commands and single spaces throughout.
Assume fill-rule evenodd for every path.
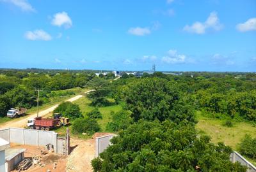
M 72 133 L 74 134 L 93 134 L 100 130 L 100 126 L 95 119 L 77 118 L 72 124 Z

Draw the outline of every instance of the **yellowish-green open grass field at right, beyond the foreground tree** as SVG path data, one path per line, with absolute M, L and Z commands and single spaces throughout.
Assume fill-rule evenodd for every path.
M 225 127 L 223 126 L 225 120 L 203 117 L 200 111 L 197 111 L 196 118 L 198 120 L 196 129 L 200 134 L 211 136 L 213 143 L 223 142 L 237 150 L 238 143 L 241 142 L 245 134 L 250 134 L 253 138 L 256 138 L 256 127 L 253 127 L 252 124 L 233 122 L 233 127 Z M 246 159 L 256 166 L 256 159 L 249 159 L 248 157 Z

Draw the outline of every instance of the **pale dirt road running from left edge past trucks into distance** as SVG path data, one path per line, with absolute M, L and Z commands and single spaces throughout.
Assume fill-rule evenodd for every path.
M 85 94 L 92 92 L 94 90 L 88 90 L 86 92 L 84 92 Z M 77 99 L 80 99 L 81 97 L 83 97 L 83 95 L 77 95 L 75 97 L 72 97 L 70 99 L 67 99 L 66 101 L 76 101 Z M 54 106 L 51 106 L 51 108 L 47 108 L 46 110 L 40 111 L 38 113 L 39 117 L 42 117 L 44 115 L 47 115 L 48 113 L 51 113 L 55 108 L 57 108 L 59 106 L 59 104 L 55 104 Z M 18 127 L 18 128 L 22 128 L 25 127 L 27 125 L 27 122 L 30 118 L 35 118 L 37 117 L 37 113 L 34 113 L 32 115 L 28 115 L 26 118 L 21 118 L 20 120 L 11 120 L 8 122 L 4 122 L 3 124 L 0 124 L 0 128 L 8 128 L 8 127 Z

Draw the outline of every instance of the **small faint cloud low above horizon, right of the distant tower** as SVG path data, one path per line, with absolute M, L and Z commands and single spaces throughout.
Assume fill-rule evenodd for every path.
M 177 50 L 169 50 L 168 55 L 162 57 L 162 62 L 168 64 L 182 64 L 186 62 L 186 55 L 178 54 Z

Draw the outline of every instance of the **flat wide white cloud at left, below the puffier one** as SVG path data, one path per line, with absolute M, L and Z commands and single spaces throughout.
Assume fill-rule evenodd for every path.
M 47 32 L 43 31 L 42 29 L 35 30 L 35 31 L 28 31 L 25 33 L 25 38 L 35 41 L 35 40 L 43 40 L 43 41 L 49 41 L 52 39 L 51 35 Z

